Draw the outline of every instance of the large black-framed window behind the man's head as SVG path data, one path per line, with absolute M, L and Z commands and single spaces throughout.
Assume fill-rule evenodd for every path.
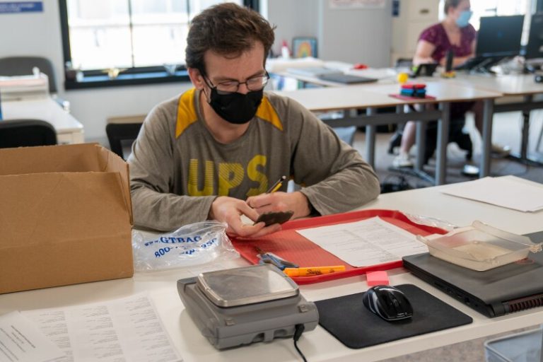
M 190 20 L 226 0 L 59 0 L 66 88 L 187 81 Z M 257 0 L 232 1 L 257 8 Z

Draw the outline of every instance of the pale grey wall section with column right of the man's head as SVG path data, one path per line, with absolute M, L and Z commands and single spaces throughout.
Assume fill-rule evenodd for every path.
M 288 9 L 288 10 L 287 10 Z M 370 66 L 388 66 L 392 1 L 385 8 L 333 9 L 328 0 L 269 0 L 267 18 L 277 26 L 276 45 L 292 37 L 317 37 L 318 57 Z

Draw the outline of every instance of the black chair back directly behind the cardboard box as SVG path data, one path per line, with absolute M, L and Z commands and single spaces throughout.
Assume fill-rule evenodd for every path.
M 57 144 L 57 132 L 40 119 L 10 119 L 0 122 L 0 148 Z

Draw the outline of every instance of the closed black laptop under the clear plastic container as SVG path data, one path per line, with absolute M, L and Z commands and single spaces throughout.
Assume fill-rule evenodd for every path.
M 543 232 L 527 236 L 535 242 L 543 240 Z M 543 305 L 543 252 L 487 271 L 459 267 L 427 252 L 403 261 L 412 274 L 487 317 Z

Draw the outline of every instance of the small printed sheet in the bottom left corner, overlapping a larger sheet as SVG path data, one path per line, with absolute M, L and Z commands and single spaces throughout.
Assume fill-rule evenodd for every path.
M 45 362 L 64 352 L 21 313 L 0 315 L 0 361 Z

